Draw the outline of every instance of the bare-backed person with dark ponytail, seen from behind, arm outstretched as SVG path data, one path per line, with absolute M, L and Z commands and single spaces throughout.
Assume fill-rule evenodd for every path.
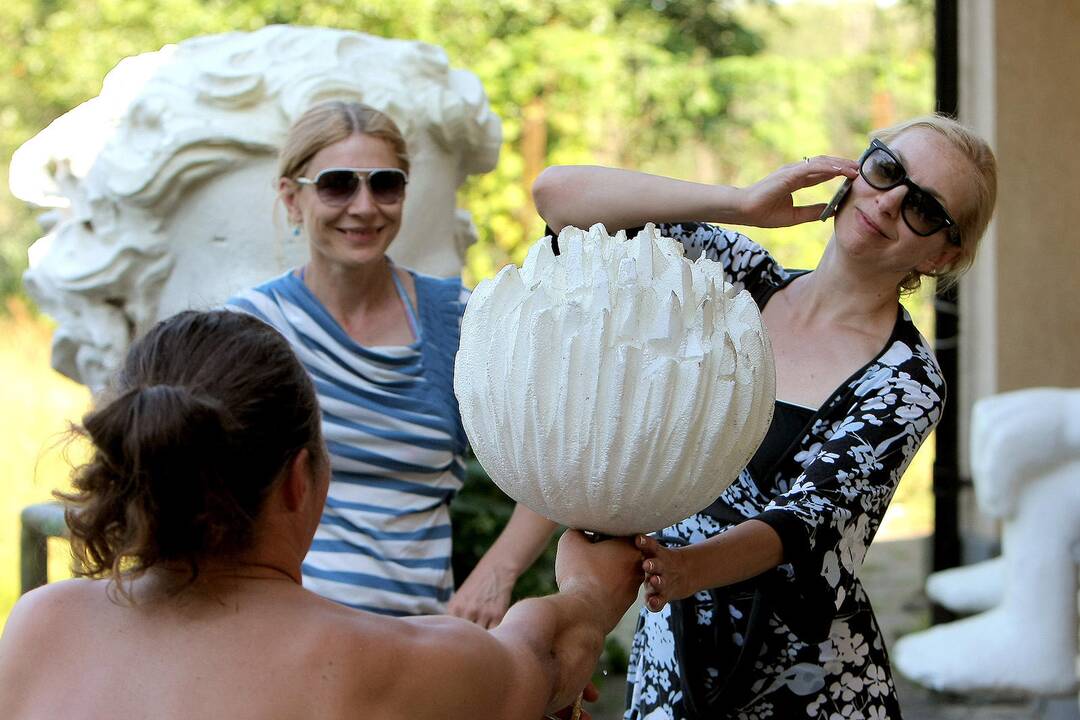
M 539 718 L 633 602 L 627 540 L 559 541 L 556 595 L 492 630 L 322 598 L 300 565 L 329 484 L 314 390 L 269 325 L 162 321 L 82 421 L 67 518 L 85 572 L 16 603 L 5 718 Z

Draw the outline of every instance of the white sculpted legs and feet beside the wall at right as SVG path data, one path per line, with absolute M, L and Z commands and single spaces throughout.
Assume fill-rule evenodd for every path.
M 894 664 L 940 691 L 1075 692 L 1080 390 L 980 400 L 971 457 L 978 505 L 1003 521 L 1001 558 L 932 576 L 930 585 L 947 606 L 989 609 L 901 638 Z

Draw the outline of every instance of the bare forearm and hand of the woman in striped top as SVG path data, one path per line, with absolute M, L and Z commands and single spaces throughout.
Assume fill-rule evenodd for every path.
M 495 544 L 450 598 L 447 612 L 487 628 L 502 622 L 514 583 L 540 557 L 557 527 L 524 505 L 514 507 Z

